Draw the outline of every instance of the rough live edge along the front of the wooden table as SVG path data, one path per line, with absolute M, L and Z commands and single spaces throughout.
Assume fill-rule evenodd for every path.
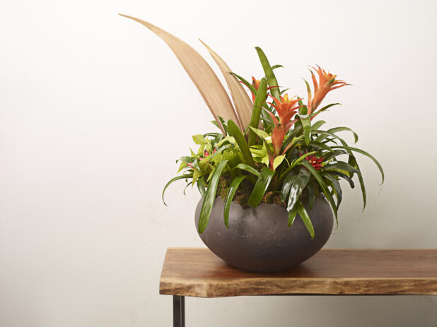
M 161 295 L 437 295 L 436 278 L 161 278 Z

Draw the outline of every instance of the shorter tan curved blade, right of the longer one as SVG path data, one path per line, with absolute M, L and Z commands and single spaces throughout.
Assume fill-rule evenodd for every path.
M 217 66 L 219 66 L 221 73 L 223 73 L 223 76 L 225 76 L 226 83 L 228 83 L 228 88 L 231 90 L 233 104 L 235 105 L 238 117 L 240 118 L 241 127 L 243 127 L 242 131 L 247 129 L 253 109 L 253 104 L 249 98 L 249 95 L 247 95 L 243 85 L 238 82 L 238 79 L 230 73 L 232 71 L 231 68 L 229 68 L 226 62 L 221 59 L 219 54 L 216 54 L 216 52 L 208 47 L 208 45 L 206 45 L 202 40 L 199 41 L 204 44 L 206 49 L 208 49 L 209 54 L 211 54 L 211 57 L 213 57 Z

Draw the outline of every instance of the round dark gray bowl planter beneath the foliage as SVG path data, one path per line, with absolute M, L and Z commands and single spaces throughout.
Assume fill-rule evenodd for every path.
M 202 202 L 203 198 L 196 208 L 196 228 Z M 257 208 L 243 208 L 233 202 L 229 229 L 223 221 L 223 207 L 223 200 L 216 198 L 208 226 L 199 236 L 214 254 L 231 266 L 256 273 L 288 270 L 307 260 L 325 245 L 334 225 L 330 205 L 321 196 L 308 212 L 314 239 L 299 215 L 289 228 L 288 213 L 278 204 L 260 203 Z

